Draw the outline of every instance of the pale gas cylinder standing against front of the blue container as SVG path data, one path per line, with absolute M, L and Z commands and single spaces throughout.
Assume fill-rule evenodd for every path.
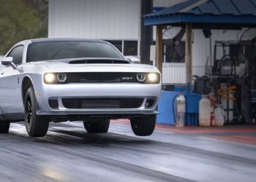
M 185 113 L 186 113 L 186 99 L 184 95 L 181 93 L 176 98 L 176 127 L 184 127 L 185 126 Z

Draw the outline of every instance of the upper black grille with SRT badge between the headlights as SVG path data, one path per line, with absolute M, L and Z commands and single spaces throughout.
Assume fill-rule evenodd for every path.
M 69 73 L 65 83 L 90 83 L 90 82 L 138 82 L 137 73 L 110 73 L 89 72 Z

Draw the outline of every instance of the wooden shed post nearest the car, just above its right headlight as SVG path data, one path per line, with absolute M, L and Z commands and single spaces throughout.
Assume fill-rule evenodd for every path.
M 162 74 L 162 25 L 157 25 L 157 68 Z

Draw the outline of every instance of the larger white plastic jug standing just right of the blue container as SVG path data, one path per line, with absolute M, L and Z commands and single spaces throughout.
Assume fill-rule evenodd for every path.
M 209 127 L 211 124 L 211 102 L 208 95 L 202 95 L 199 101 L 199 126 Z

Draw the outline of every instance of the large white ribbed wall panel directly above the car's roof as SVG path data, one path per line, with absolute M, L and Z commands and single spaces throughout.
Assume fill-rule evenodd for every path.
M 140 0 L 50 0 L 49 37 L 139 39 Z

